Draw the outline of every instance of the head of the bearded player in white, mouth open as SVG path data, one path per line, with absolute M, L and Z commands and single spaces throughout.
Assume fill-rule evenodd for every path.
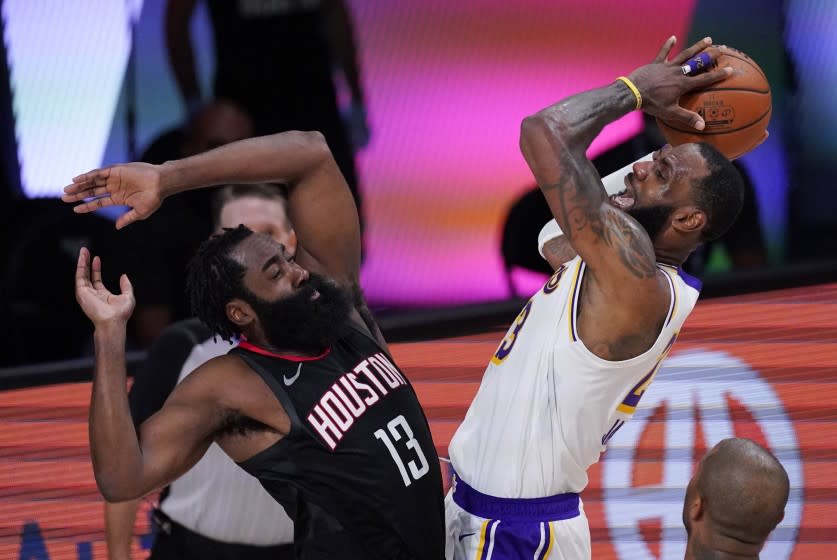
M 723 235 L 743 202 L 738 170 L 704 143 L 663 146 L 653 161 L 635 163 L 625 190 L 610 197 L 645 228 L 658 254 L 682 258 Z

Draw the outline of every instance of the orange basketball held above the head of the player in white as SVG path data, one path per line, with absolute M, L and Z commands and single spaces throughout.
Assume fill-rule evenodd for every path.
M 731 66 L 732 75 L 680 98 L 680 106 L 703 117 L 706 128 L 695 130 L 660 119 L 657 124 L 673 146 L 706 142 L 735 159 L 766 137 L 771 114 L 770 86 L 759 65 L 743 52 L 723 45 L 709 49 L 715 55 L 713 67 Z

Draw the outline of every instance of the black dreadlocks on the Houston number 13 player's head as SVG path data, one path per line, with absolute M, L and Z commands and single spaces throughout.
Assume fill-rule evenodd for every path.
M 230 257 L 230 253 L 251 235 L 253 231 L 243 225 L 225 228 L 224 233 L 201 243 L 186 271 L 192 314 L 227 341 L 232 341 L 241 331 L 227 317 L 226 305 L 231 299 L 249 293 L 244 286 L 247 269 Z

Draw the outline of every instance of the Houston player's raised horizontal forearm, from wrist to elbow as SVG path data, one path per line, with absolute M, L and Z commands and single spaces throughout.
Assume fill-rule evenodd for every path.
M 164 196 L 225 183 L 284 182 L 291 189 L 332 159 L 319 132 L 248 138 L 160 166 Z

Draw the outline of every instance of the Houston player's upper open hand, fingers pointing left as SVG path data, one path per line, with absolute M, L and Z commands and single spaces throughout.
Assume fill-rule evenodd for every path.
M 144 220 L 163 202 L 158 166 L 126 163 L 94 169 L 74 177 L 61 196 L 61 200 L 70 203 L 90 198 L 73 207 L 73 211 L 86 214 L 105 206 L 130 206 L 131 210 L 116 220 L 116 229 Z

